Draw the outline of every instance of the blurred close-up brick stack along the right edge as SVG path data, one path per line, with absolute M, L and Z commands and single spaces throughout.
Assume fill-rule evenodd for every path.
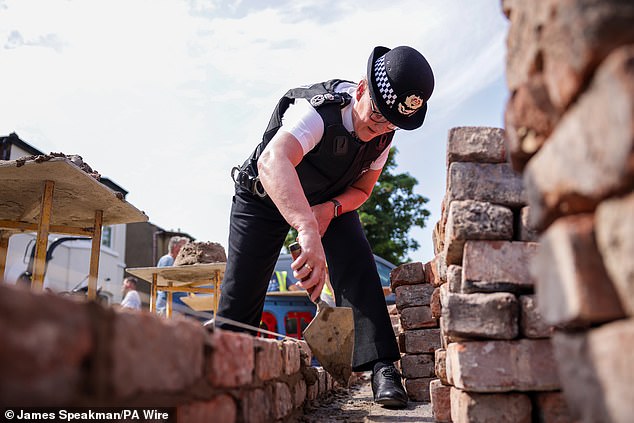
M 505 0 L 505 126 L 537 305 L 583 422 L 634 416 L 634 2 Z

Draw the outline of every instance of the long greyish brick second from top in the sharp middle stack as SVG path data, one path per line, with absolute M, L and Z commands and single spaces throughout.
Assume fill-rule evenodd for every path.
M 507 163 L 454 162 L 447 175 L 447 201 L 463 200 L 522 207 L 526 204 L 522 176 Z

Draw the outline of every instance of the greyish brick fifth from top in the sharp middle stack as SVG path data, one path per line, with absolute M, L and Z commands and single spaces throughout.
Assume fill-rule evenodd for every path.
M 442 317 L 451 337 L 513 339 L 518 334 L 518 301 L 509 293 L 449 294 Z

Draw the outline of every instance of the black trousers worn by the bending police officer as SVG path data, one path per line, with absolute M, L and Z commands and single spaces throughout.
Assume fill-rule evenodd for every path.
M 238 189 L 231 207 L 219 316 L 259 327 L 269 280 L 289 229 L 269 199 Z M 351 307 L 354 315 L 353 370 L 371 370 L 376 360 L 398 360 L 381 281 L 357 212 L 333 219 L 322 243 L 336 303 Z

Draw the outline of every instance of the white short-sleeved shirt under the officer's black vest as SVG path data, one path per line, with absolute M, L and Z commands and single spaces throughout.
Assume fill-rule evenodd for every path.
M 349 132 L 354 131 L 354 126 L 352 124 L 352 108 L 357 101 L 355 97 L 356 91 L 357 84 L 352 84 L 350 82 L 342 82 L 335 87 L 335 92 L 345 92 L 350 94 L 352 97 L 350 104 L 341 109 L 343 126 Z M 298 98 L 295 100 L 295 103 L 291 104 L 286 112 L 284 112 L 280 131 L 288 132 L 297 138 L 297 141 L 299 141 L 302 146 L 304 155 L 306 155 L 310 150 L 315 148 L 317 143 L 321 140 L 321 137 L 324 135 L 324 121 L 317 110 L 310 105 L 308 100 Z M 391 146 L 392 143 L 390 142 L 390 145 L 383 151 L 383 153 L 381 153 L 381 155 L 372 162 L 370 169 L 383 169 L 383 166 L 387 161 L 388 154 L 390 153 Z

